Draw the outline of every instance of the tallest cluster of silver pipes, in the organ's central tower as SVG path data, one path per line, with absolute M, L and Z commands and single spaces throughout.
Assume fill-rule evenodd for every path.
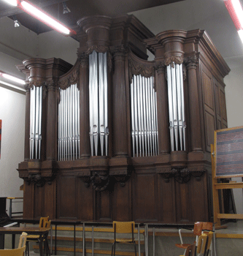
M 89 103 L 91 156 L 108 155 L 107 53 L 89 56 Z M 100 153 L 99 153 L 100 152 Z

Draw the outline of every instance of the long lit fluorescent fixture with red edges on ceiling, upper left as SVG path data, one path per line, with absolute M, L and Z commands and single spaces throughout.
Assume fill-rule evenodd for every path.
M 39 7 L 36 7 L 34 4 L 27 0 L 18 0 L 18 7 L 27 12 L 29 15 L 33 16 L 34 18 L 42 21 L 47 26 L 55 29 L 56 31 L 60 32 L 61 34 L 69 35 L 69 34 L 77 34 L 76 31 L 69 29 L 63 23 L 59 22 L 51 15 L 44 12 Z

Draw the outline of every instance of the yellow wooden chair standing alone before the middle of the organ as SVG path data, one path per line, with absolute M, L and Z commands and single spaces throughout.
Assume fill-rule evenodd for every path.
M 134 244 L 136 255 L 136 244 L 134 239 L 135 222 L 113 222 L 114 241 L 112 244 L 112 255 L 115 256 L 115 244 Z M 117 233 L 131 234 L 131 238 L 117 238 Z

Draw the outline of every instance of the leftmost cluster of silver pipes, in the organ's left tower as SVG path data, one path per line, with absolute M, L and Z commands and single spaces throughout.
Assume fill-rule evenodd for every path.
M 42 143 L 42 86 L 31 88 L 30 159 L 40 159 Z

